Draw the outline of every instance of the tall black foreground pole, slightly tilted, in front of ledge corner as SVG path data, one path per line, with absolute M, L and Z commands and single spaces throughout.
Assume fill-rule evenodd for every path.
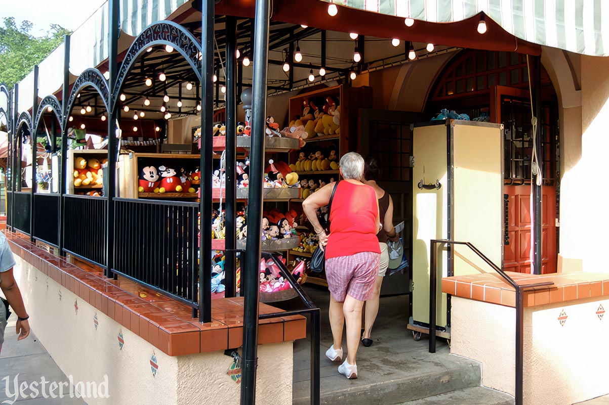
M 241 405 L 256 403 L 256 367 L 258 367 L 259 260 L 262 233 L 262 173 L 264 171 L 264 138 L 266 126 L 267 61 L 269 60 L 269 0 L 256 0 L 254 33 L 254 74 L 252 77 L 252 144 L 250 148 L 250 190 L 245 265 L 243 360 Z

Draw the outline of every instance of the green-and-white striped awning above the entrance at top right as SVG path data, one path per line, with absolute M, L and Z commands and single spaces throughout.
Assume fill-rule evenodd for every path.
M 609 0 L 323 0 L 428 22 L 461 21 L 484 12 L 523 40 L 609 55 Z

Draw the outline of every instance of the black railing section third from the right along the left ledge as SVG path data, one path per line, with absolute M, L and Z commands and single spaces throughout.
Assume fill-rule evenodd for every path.
M 57 247 L 59 228 L 59 195 L 49 193 L 34 194 L 33 237 Z

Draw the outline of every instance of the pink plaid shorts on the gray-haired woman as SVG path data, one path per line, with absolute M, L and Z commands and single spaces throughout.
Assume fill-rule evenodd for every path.
M 360 252 L 326 259 L 326 279 L 334 299 L 344 302 L 347 294 L 360 301 L 370 299 L 380 257 L 375 252 Z

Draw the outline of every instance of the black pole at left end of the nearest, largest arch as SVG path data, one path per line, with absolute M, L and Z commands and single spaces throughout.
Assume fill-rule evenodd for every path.
M 107 218 L 106 218 L 106 277 L 115 277 L 112 269 L 114 268 L 114 196 L 116 196 L 116 119 L 120 119 L 118 110 L 119 102 L 114 100 L 114 86 L 118 79 L 118 35 L 119 35 L 119 0 L 110 0 L 108 12 L 110 18 L 108 21 L 108 32 L 110 33 L 110 41 L 108 43 L 108 71 L 110 71 L 110 79 L 108 80 L 108 89 L 110 89 L 110 111 L 108 111 L 108 178 L 104 179 L 107 182 Z

